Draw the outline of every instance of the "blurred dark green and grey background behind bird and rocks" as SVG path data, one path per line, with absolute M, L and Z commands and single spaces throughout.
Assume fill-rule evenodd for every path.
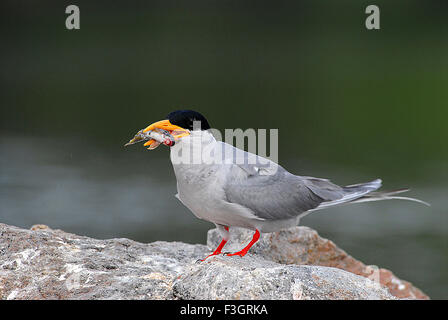
M 81 29 L 65 28 L 76 4 Z M 0 222 L 204 243 L 169 151 L 123 144 L 173 110 L 278 128 L 293 173 L 381 177 L 402 201 L 302 223 L 448 298 L 448 2 L 2 1 Z

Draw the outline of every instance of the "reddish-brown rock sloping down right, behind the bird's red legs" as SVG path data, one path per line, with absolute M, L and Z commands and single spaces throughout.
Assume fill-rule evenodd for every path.
M 231 228 L 230 232 L 231 241 L 224 247 L 230 252 L 244 247 L 253 234 L 252 231 L 241 228 Z M 220 241 L 221 236 L 217 229 L 208 232 L 207 245 L 210 248 L 215 248 Z M 346 270 L 381 283 L 397 298 L 429 299 L 410 282 L 399 279 L 387 269 L 365 265 L 308 227 L 294 227 L 280 232 L 262 234 L 260 241 L 251 248 L 250 252 L 280 264 L 315 265 Z

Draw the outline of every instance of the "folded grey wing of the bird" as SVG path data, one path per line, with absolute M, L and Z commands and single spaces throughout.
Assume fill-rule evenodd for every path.
M 250 209 L 262 219 L 289 219 L 307 211 L 347 203 L 381 185 L 380 180 L 375 180 L 340 187 L 327 179 L 293 175 L 268 159 L 228 144 L 221 146 L 227 148 L 224 157 L 233 158 L 232 164 L 226 166 L 223 186 L 226 200 Z M 254 160 L 255 164 L 251 164 Z

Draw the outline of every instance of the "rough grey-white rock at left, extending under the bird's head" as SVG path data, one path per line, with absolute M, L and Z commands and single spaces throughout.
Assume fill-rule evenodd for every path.
M 0 299 L 174 299 L 173 280 L 207 253 L 204 245 L 0 224 Z

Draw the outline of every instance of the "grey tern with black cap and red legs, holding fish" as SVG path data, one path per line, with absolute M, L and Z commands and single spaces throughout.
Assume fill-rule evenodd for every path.
M 297 226 L 307 214 L 343 204 L 402 199 L 409 189 L 378 191 L 381 179 L 339 186 L 329 179 L 299 176 L 281 165 L 215 139 L 208 120 L 194 110 L 177 110 L 139 133 L 162 130 L 175 139 L 170 160 L 177 180 L 175 195 L 197 218 L 214 223 L 222 240 L 207 258 L 219 254 L 243 257 L 261 233 Z M 137 136 L 136 136 L 137 137 Z M 139 142 L 132 139 L 126 145 Z M 151 139 L 144 146 L 160 143 Z M 230 227 L 253 230 L 240 251 L 223 253 Z

